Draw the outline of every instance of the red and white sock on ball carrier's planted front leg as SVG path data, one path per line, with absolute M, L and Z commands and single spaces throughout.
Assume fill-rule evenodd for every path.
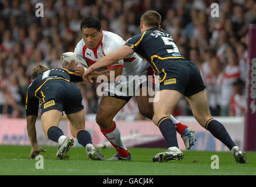
M 120 131 L 114 122 L 114 125 L 110 129 L 101 129 L 102 134 L 109 140 L 110 144 L 115 147 L 117 153 L 121 157 L 128 157 L 129 151 L 121 139 Z

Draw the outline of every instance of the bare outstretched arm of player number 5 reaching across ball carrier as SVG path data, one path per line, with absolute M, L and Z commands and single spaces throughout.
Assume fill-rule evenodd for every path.
M 98 62 L 88 67 L 87 71 L 84 72 L 82 78 L 85 80 L 87 79 L 87 75 L 91 74 L 94 70 L 112 65 L 113 63 L 116 63 L 117 61 L 122 60 L 123 58 L 133 53 L 134 51 L 130 49 L 129 46 L 122 46 L 115 52 L 108 54 L 107 56 L 101 58 L 101 60 L 99 60 Z

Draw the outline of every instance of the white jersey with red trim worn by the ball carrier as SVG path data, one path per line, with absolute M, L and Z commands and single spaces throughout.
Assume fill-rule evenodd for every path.
M 88 49 L 85 46 L 85 42 L 81 39 L 77 46 L 75 46 L 74 53 L 79 54 L 84 57 L 89 64 L 94 64 L 96 61 L 101 60 L 102 57 L 115 52 L 117 49 L 122 47 L 125 44 L 125 41 L 122 37 L 118 36 L 115 33 L 108 32 L 103 30 L 103 36 L 101 41 L 99 41 L 98 46 L 95 49 Z M 120 60 L 115 64 L 112 64 L 106 68 L 120 68 L 123 67 L 122 75 L 128 77 L 128 75 L 141 75 L 143 72 L 146 72 L 150 65 L 140 58 L 136 53 L 133 53 L 124 60 Z M 150 73 L 152 75 L 152 73 Z

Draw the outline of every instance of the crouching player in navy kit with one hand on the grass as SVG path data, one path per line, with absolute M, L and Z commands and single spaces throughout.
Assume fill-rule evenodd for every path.
M 35 124 L 40 103 L 44 133 L 47 138 L 59 144 L 56 157 L 62 159 L 74 145 L 74 139 L 65 136 L 58 128 L 64 111 L 70 121 L 72 136 L 86 148 L 89 160 L 105 160 L 105 157 L 92 145 L 91 134 L 85 130 L 82 95 L 77 85 L 71 82 L 81 81 L 81 78 L 74 75 L 72 70 L 64 68 L 50 70 L 43 64 L 33 68 L 31 77 L 33 81 L 27 89 L 26 97 L 27 133 L 32 145 L 30 158 L 34 158 L 40 151 L 46 151 L 37 145 L 36 138 Z

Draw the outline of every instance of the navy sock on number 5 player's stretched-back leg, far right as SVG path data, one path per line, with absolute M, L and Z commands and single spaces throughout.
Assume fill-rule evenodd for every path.
M 232 147 L 236 146 L 236 144 L 234 144 L 234 141 L 230 138 L 229 133 L 227 133 L 227 130 L 225 129 L 223 124 L 218 122 L 217 120 L 209 119 L 206 122 L 205 129 L 209 130 L 214 137 L 216 137 L 223 144 L 229 147 L 229 150 L 231 150 Z

